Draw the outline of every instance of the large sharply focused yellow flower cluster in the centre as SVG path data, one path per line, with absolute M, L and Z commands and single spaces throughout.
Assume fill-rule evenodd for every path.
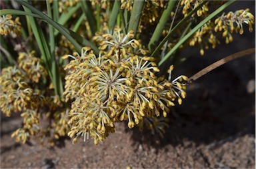
M 159 69 L 133 37 L 133 31 L 124 35 L 116 28 L 94 38 L 101 45 L 99 56 L 89 47 L 83 47 L 81 56 L 63 56 L 73 58 L 65 67 L 64 92 L 66 101 L 73 100 L 68 122 L 73 142 L 81 135 L 98 144 L 114 132 L 114 122 L 128 120 L 133 128 L 145 116 L 167 116 L 175 100 L 181 104 L 185 98 L 187 77 L 171 81 L 171 66 L 168 79 L 157 78 Z

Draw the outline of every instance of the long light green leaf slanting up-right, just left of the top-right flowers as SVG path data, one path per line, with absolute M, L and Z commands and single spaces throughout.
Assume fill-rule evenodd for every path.
M 206 17 L 205 19 L 203 19 L 203 21 L 201 21 L 197 26 L 195 26 L 189 33 L 187 33 L 187 35 L 185 35 L 185 37 L 183 37 L 183 39 L 181 39 L 172 49 L 171 51 L 169 51 L 169 53 L 167 53 L 167 55 L 165 55 L 165 57 L 159 62 L 158 66 L 161 66 L 169 57 L 171 57 L 171 55 L 173 55 L 173 53 L 183 44 L 185 43 L 185 41 L 187 41 L 187 39 L 189 39 L 189 37 L 191 37 L 198 29 L 200 29 L 203 25 L 205 25 L 205 23 L 207 23 L 209 20 L 213 19 L 213 17 L 215 17 L 216 15 L 218 15 L 221 11 L 223 11 L 224 9 L 226 9 L 227 7 L 229 7 L 229 5 L 231 5 L 232 3 L 234 3 L 235 1 L 227 1 L 227 3 L 225 3 L 224 5 L 222 5 L 221 7 L 219 7 L 217 10 L 213 11 L 213 13 L 211 13 L 208 17 Z

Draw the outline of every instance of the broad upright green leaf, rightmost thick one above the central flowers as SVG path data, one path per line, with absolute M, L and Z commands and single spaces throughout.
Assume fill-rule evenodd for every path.
M 177 1 L 170 0 L 167 4 L 167 8 L 163 11 L 163 14 L 161 15 L 161 18 L 159 20 L 159 23 L 157 23 L 157 27 L 155 27 L 155 31 L 149 41 L 149 51 L 152 51 L 153 47 L 156 46 L 156 43 L 159 41 L 159 38 L 161 37 L 161 34 L 163 32 L 163 29 L 165 28 L 165 24 L 167 23 L 171 11 L 173 11 L 173 7 Z

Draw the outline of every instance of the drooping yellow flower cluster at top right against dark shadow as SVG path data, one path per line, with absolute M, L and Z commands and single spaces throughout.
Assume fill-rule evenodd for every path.
M 231 33 L 243 34 L 243 24 L 249 25 L 249 31 L 253 31 L 254 16 L 249 13 L 249 9 L 241 9 L 239 11 L 229 12 L 227 15 L 223 13 L 221 17 L 215 19 L 215 22 L 209 21 L 201 27 L 189 41 L 190 46 L 199 45 L 201 48 L 200 54 L 204 54 L 204 49 L 209 49 L 208 43 L 215 49 L 220 43 L 218 37 L 222 35 L 225 38 L 225 43 L 233 41 Z

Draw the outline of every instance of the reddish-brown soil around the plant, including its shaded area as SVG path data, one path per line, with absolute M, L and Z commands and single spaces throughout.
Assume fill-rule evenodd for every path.
M 255 1 L 249 7 L 255 13 Z M 232 9 L 231 9 L 232 10 Z M 254 11 L 254 12 L 253 12 Z M 246 28 L 247 29 L 247 28 Z M 221 42 L 223 43 L 223 42 Z M 224 43 L 223 43 L 224 44 Z M 190 77 L 215 61 L 255 47 L 255 32 L 234 35 L 233 43 L 197 53 L 179 67 Z M 188 55 L 184 51 L 181 55 Z M 164 138 L 126 122 L 98 146 L 83 138 L 59 146 L 19 144 L 11 132 L 21 126 L 16 114 L 1 114 L 1 168 L 255 168 L 255 54 L 227 63 L 193 82 L 187 98 L 169 116 Z

